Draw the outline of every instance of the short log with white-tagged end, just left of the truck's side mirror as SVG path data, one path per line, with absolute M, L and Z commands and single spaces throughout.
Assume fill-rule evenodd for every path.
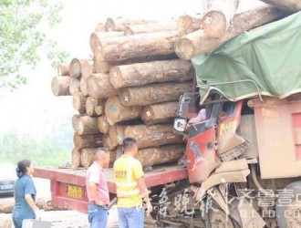
M 141 110 L 141 119 L 146 125 L 172 122 L 176 117 L 178 107 L 178 102 L 165 102 L 145 106 Z

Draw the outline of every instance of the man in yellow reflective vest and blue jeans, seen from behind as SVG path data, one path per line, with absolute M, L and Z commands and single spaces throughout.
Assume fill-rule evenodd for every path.
M 152 206 L 143 178 L 142 165 L 134 158 L 138 153 L 136 140 L 124 139 L 122 149 L 124 154 L 114 163 L 119 228 L 142 228 L 144 223 L 142 198 L 147 205 L 147 216 L 152 211 Z

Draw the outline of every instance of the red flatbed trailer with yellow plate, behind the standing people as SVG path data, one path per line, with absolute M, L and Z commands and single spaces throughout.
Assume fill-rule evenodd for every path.
M 106 169 L 105 174 L 108 180 L 110 198 L 113 199 L 116 196 L 113 169 Z M 152 171 L 146 171 L 144 174 L 144 180 L 148 188 L 188 178 L 187 171 L 174 164 L 154 167 Z M 35 169 L 35 177 L 51 181 L 52 204 L 55 208 L 87 212 L 88 197 L 85 169 L 37 167 Z

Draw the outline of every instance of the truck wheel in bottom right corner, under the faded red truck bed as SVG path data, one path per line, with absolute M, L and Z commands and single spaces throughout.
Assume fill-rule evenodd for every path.
M 279 199 L 276 203 L 276 220 L 279 228 L 298 228 L 301 227 L 301 203 L 297 200 L 301 197 L 301 181 L 288 184 L 285 189 L 293 190 L 291 203 L 279 206 Z M 287 193 L 290 194 L 291 192 Z M 301 199 L 300 199 L 301 200 Z

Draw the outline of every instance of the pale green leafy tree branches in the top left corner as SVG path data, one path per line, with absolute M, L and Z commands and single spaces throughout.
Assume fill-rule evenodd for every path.
M 26 83 L 22 67 L 35 67 L 39 60 L 50 60 L 53 67 L 67 53 L 47 36 L 61 21 L 61 4 L 47 0 L 0 0 L 0 88 L 17 88 Z

